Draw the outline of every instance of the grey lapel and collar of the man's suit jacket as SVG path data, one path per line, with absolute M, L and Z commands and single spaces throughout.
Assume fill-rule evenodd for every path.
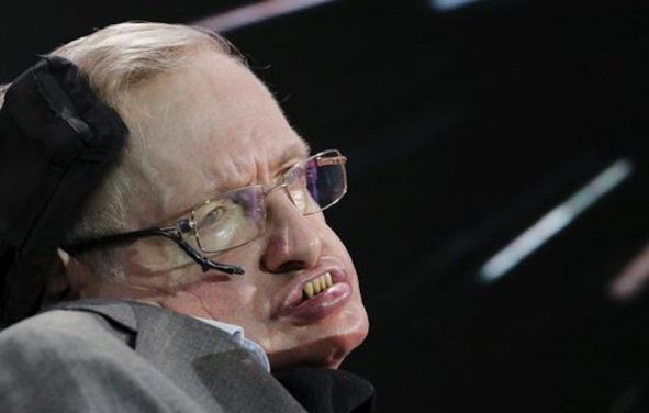
M 132 301 L 85 300 L 58 309 L 93 312 L 131 332 L 135 351 L 208 410 L 304 412 L 227 333 L 199 320 Z

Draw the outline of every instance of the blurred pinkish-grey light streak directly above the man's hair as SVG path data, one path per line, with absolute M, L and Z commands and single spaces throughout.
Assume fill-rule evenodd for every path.
M 226 32 L 334 1 L 339 0 L 266 0 L 197 20 L 190 24 L 216 32 Z

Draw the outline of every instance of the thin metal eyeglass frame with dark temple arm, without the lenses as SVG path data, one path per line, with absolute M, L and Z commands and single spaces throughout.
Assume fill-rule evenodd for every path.
M 160 226 L 160 227 L 153 226 L 153 227 L 148 227 L 148 228 L 144 228 L 144 230 L 136 230 L 136 231 L 131 231 L 131 232 L 125 232 L 125 233 L 102 235 L 102 236 L 98 236 L 98 237 L 81 239 L 81 241 L 76 242 L 74 244 L 64 245 L 64 246 L 61 246 L 61 249 L 68 252 L 71 255 L 75 255 L 75 254 L 82 253 L 83 250 L 97 248 L 101 245 L 126 243 L 128 241 L 135 241 L 135 239 L 142 238 L 142 237 L 148 237 L 148 236 L 164 236 L 164 237 L 175 242 L 176 245 L 178 245 L 191 259 L 193 259 L 197 264 L 199 264 L 201 266 L 201 269 L 203 270 L 203 272 L 208 271 L 210 269 L 215 269 L 221 272 L 225 272 L 227 275 L 244 275 L 246 271 L 240 266 L 219 263 L 219 261 L 208 258 L 203 254 L 208 253 L 208 254 L 216 255 L 216 254 L 222 254 L 227 250 L 247 245 L 247 244 L 251 243 L 253 241 L 257 239 L 259 236 L 261 236 L 264 234 L 266 227 L 264 228 L 264 231 L 260 231 L 259 234 L 257 234 L 255 237 L 244 242 L 243 244 L 238 244 L 238 245 L 231 246 L 231 247 L 223 248 L 223 249 L 219 249 L 219 250 L 206 250 L 201 246 L 199 232 L 195 226 L 194 217 L 195 217 L 197 210 L 201 206 L 204 206 L 205 204 L 209 204 L 211 202 L 223 199 L 224 196 L 227 193 L 248 189 L 248 188 L 261 188 L 261 193 L 264 196 L 264 217 L 262 217 L 262 221 L 266 222 L 266 210 L 267 210 L 266 209 L 266 199 L 272 192 L 276 192 L 277 190 L 280 190 L 280 189 L 286 189 L 290 185 L 289 182 L 287 182 L 286 177 L 291 171 L 293 171 L 295 168 L 298 168 L 299 166 L 306 165 L 310 160 L 317 159 L 318 157 L 323 156 L 324 154 L 329 154 L 329 153 L 337 154 L 336 156 L 332 156 L 332 158 L 336 158 L 336 160 L 339 161 L 343 167 L 343 182 L 344 182 L 343 191 L 342 191 L 340 196 L 336 198 L 335 201 L 331 202 L 326 206 L 318 208 L 315 211 L 310 211 L 307 213 L 302 212 L 302 215 L 307 216 L 307 215 L 311 215 L 314 213 L 322 212 L 322 211 L 327 210 L 331 206 L 335 205 L 336 203 L 338 203 L 338 201 L 340 201 L 345 197 L 345 194 L 347 193 L 347 170 L 345 168 L 345 164 L 347 163 L 347 157 L 345 155 L 343 155 L 338 149 L 322 150 L 315 155 L 307 157 L 306 159 L 303 159 L 303 160 L 296 163 L 295 165 L 291 166 L 282 174 L 281 181 L 279 183 L 273 185 L 268 189 L 264 189 L 264 187 L 261 185 L 253 185 L 253 186 L 247 186 L 247 187 L 234 188 L 228 191 L 222 192 L 219 197 L 210 198 L 208 200 L 199 202 L 199 203 L 194 204 L 193 206 L 191 206 L 191 209 L 189 211 L 189 216 L 186 216 L 186 217 L 182 217 L 182 219 L 176 221 L 172 226 Z M 291 200 L 291 202 L 293 202 L 293 204 L 294 204 L 294 200 L 293 200 L 290 191 L 287 190 L 286 192 L 287 192 L 287 196 L 289 197 L 289 199 Z M 197 246 L 199 247 L 200 250 L 198 250 L 197 248 L 191 246 L 184 239 L 183 234 L 187 234 L 189 232 L 193 232 L 193 235 L 197 239 Z

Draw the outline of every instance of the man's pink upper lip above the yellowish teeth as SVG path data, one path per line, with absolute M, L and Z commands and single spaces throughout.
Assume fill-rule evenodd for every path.
M 345 282 L 347 280 L 347 271 L 342 263 L 334 258 L 323 258 L 316 268 L 301 274 L 279 290 L 276 295 L 278 305 L 276 306 L 275 314 L 299 305 L 302 302 L 304 284 L 327 272 L 332 275 L 334 283 Z

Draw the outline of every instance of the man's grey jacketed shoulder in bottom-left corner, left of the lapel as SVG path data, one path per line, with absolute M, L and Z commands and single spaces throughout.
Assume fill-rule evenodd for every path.
M 171 395 L 182 398 L 101 315 L 54 310 L 0 333 L 3 412 L 171 412 Z

